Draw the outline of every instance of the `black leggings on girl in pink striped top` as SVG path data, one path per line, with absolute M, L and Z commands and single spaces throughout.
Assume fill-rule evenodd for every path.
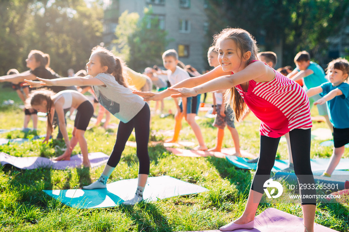
M 253 178 L 251 189 L 264 193 L 263 184 L 270 178 L 271 169 L 274 166 L 276 151 L 280 137 L 271 138 L 264 135 L 260 137 L 260 154 L 256 174 Z M 311 129 L 293 129 L 290 131 L 291 151 L 295 174 L 298 184 L 315 184 L 310 165 L 310 141 Z M 299 186 L 299 185 L 298 185 Z M 315 189 L 300 190 L 300 195 L 315 196 Z M 316 199 L 302 198 L 302 205 L 316 205 Z

